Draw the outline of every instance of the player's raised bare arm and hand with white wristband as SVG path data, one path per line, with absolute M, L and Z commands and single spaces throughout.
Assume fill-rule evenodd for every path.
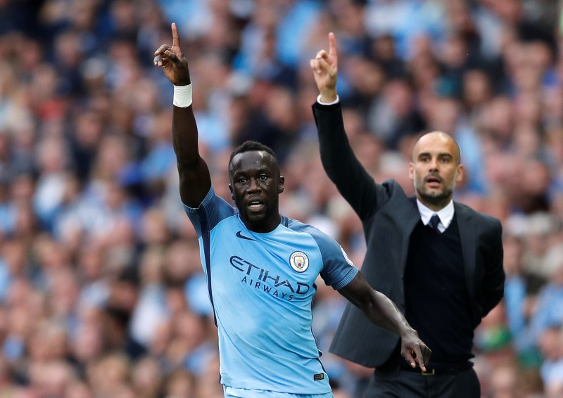
M 180 179 L 180 197 L 189 207 L 198 207 L 211 187 L 211 177 L 198 149 L 198 128 L 191 108 L 188 61 L 180 48 L 178 28 L 172 23 L 172 46 L 163 44 L 154 52 L 154 65 L 162 68 L 174 84 L 172 141 Z

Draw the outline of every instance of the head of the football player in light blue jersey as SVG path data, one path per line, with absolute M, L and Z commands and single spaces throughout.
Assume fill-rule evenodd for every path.
M 279 224 L 279 194 L 284 177 L 269 153 L 252 150 L 232 160 L 231 196 L 241 219 L 251 231 L 269 232 Z

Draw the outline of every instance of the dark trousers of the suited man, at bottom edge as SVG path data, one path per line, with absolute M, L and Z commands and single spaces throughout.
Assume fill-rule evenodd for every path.
M 464 371 L 422 375 L 422 372 L 375 371 L 366 398 L 479 398 L 481 386 L 473 368 Z

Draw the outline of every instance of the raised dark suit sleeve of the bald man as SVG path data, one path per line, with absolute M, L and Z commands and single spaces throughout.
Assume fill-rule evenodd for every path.
M 374 211 L 378 200 L 384 200 L 384 195 L 377 197 L 381 187 L 375 184 L 350 147 L 344 130 L 341 105 L 315 103 L 312 110 L 319 134 L 322 166 L 360 219 L 366 219 Z

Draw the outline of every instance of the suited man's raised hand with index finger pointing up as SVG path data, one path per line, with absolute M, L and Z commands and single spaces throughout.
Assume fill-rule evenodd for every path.
M 329 52 L 319 51 L 315 59 L 310 60 L 309 63 L 321 94 L 321 101 L 325 103 L 336 101 L 336 73 L 339 66 L 334 33 L 329 33 Z

